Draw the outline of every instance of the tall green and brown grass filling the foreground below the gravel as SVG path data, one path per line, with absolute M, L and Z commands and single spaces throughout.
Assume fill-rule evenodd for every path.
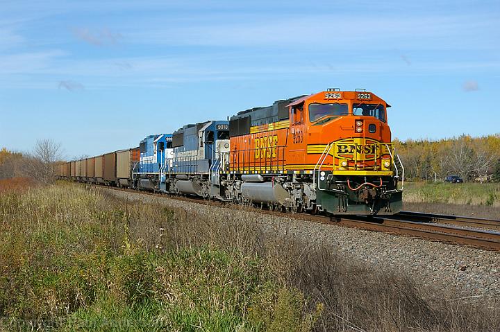
M 0 331 L 499 331 L 499 311 L 270 231 L 62 185 L 0 195 Z M 52 331 L 52 330 L 51 330 Z

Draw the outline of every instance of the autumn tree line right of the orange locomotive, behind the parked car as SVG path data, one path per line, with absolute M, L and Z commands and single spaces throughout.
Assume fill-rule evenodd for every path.
M 500 134 L 396 140 L 395 146 L 407 179 L 442 181 L 447 175 L 458 175 L 465 181 L 500 180 Z

